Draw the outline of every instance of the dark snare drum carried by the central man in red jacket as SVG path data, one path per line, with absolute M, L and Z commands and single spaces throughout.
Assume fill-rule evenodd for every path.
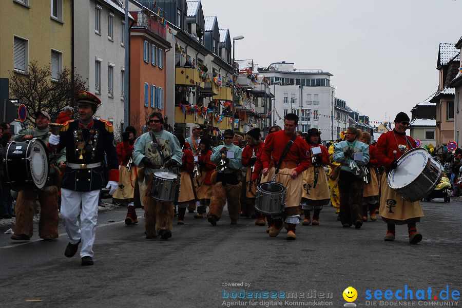
M 278 182 L 264 182 L 257 186 L 255 209 L 261 214 L 281 214 L 285 206 L 285 187 Z

